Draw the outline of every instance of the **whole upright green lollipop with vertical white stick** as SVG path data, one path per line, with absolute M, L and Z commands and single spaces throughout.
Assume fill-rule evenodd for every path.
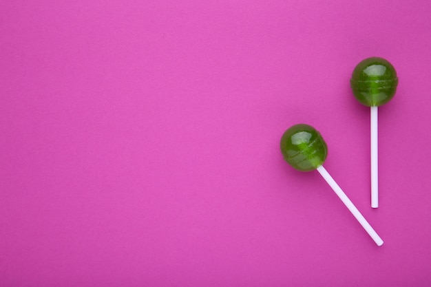
M 350 87 L 359 103 L 371 107 L 371 207 L 379 206 L 377 107 L 388 103 L 397 91 L 394 67 L 385 59 L 372 57 L 361 61 L 353 70 Z

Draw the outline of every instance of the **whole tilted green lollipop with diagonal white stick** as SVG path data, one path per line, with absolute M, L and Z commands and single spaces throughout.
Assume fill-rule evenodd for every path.
M 328 154 L 326 142 L 314 127 L 310 125 L 294 125 L 287 129 L 280 142 L 284 160 L 299 171 L 312 171 L 317 169 L 320 175 L 328 182 L 330 187 L 338 195 L 339 199 L 346 204 L 348 210 L 355 216 L 357 221 L 366 230 L 368 235 L 375 241 L 378 246 L 383 244 L 383 240 L 377 235 L 375 230 L 366 221 L 363 215 L 358 211 L 355 205 L 347 197 L 346 193 L 339 187 L 337 182 L 329 175 L 323 167 Z

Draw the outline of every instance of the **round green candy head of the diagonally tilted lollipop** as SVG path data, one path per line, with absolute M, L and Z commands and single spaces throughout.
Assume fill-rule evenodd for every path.
M 284 131 L 280 141 L 284 160 L 298 171 L 313 171 L 328 155 L 326 142 L 314 127 L 294 125 Z

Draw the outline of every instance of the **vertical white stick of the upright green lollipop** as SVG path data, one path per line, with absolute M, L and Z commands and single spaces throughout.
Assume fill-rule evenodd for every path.
M 379 113 L 377 107 L 371 107 L 370 112 L 370 129 L 371 129 L 371 207 L 377 209 L 379 207 L 379 137 L 377 130 L 379 129 L 378 118 Z

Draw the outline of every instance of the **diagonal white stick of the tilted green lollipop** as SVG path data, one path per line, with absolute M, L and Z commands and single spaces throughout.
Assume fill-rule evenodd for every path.
M 371 225 L 366 221 L 363 215 L 357 210 L 356 206 L 349 200 L 346 193 L 339 187 L 337 182 L 330 176 L 328 171 L 321 165 L 317 167 L 317 171 L 319 171 L 320 175 L 328 182 L 329 186 L 335 191 L 338 195 L 339 199 L 346 205 L 348 210 L 355 216 L 357 221 L 364 227 L 365 231 L 370 235 L 372 240 L 376 242 L 377 246 L 381 246 L 383 244 L 383 240 L 381 240 L 380 236 L 375 232 L 375 230 L 371 227 Z

